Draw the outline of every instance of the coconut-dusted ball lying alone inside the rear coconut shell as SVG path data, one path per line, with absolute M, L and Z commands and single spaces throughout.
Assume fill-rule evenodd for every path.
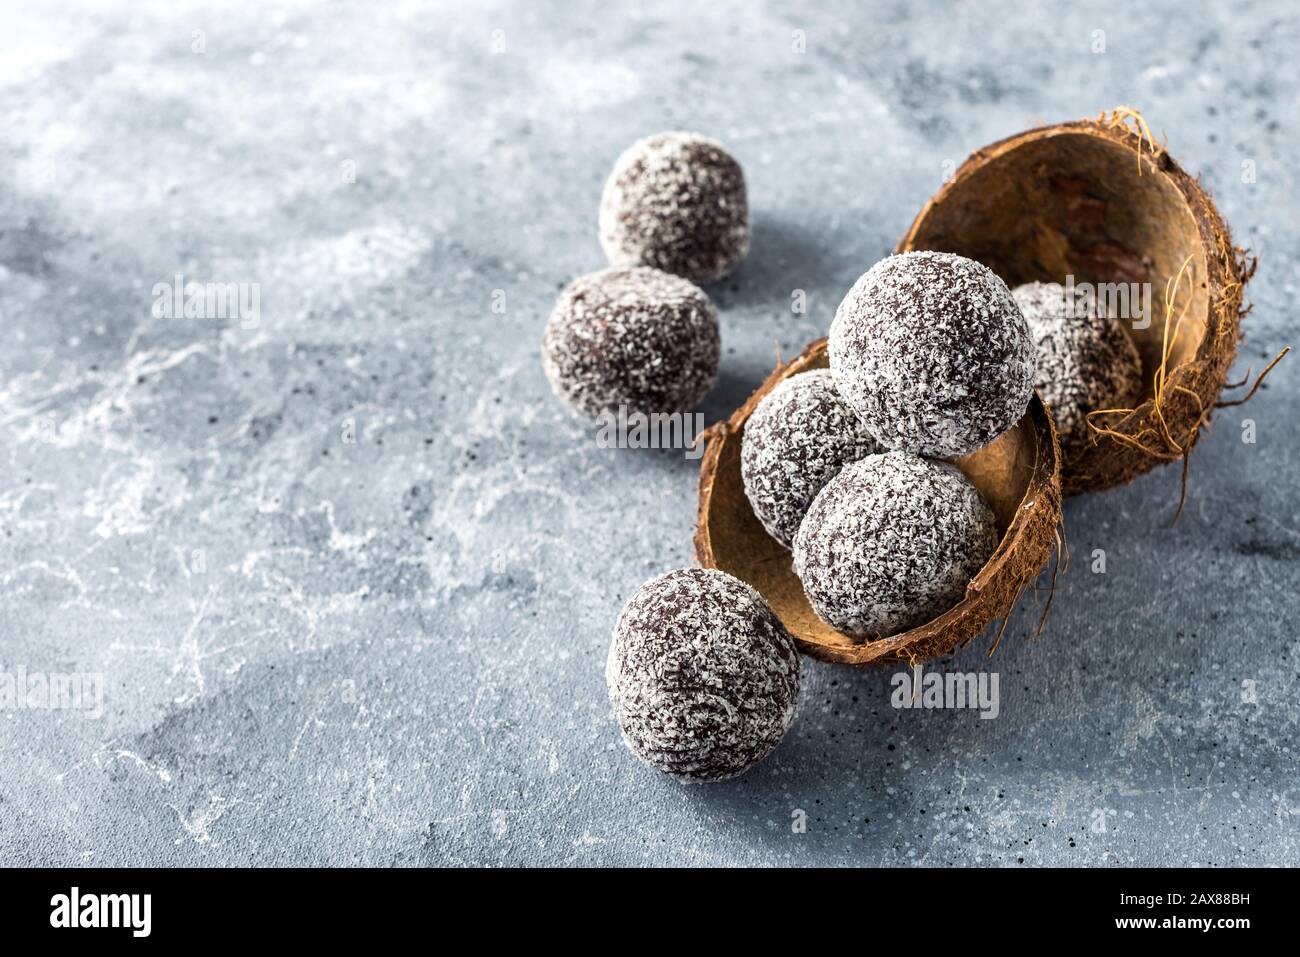
M 1076 455 L 1089 442 L 1088 412 L 1140 400 L 1138 347 L 1119 320 L 1098 313 L 1095 298 L 1079 289 L 1028 282 L 1011 295 L 1037 350 L 1034 386 L 1052 408 L 1062 451 Z

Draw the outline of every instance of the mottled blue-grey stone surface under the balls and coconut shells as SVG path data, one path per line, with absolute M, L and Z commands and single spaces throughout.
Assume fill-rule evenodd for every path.
M 1258 371 L 1296 335 L 1294 5 L 121 0 L 0 38 L 0 666 L 105 681 L 98 720 L 0 713 L 0 862 L 1300 861 L 1294 358 L 1176 527 L 1176 468 L 1067 506 L 1048 633 L 1031 601 L 950 664 L 996 720 L 809 662 L 774 755 L 698 788 L 602 675 L 690 562 L 696 463 L 598 449 L 538 361 L 637 137 L 749 177 L 718 417 L 945 164 L 1132 104 L 1260 255 Z M 155 319 L 177 273 L 260 283 L 260 322 Z

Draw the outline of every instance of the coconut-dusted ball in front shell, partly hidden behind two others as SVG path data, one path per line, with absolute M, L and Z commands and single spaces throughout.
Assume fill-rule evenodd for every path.
M 850 462 L 879 451 L 831 371 L 801 372 L 763 397 L 745 423 L 745 497 L 767 533 L 789 547 L 816 493 Z

